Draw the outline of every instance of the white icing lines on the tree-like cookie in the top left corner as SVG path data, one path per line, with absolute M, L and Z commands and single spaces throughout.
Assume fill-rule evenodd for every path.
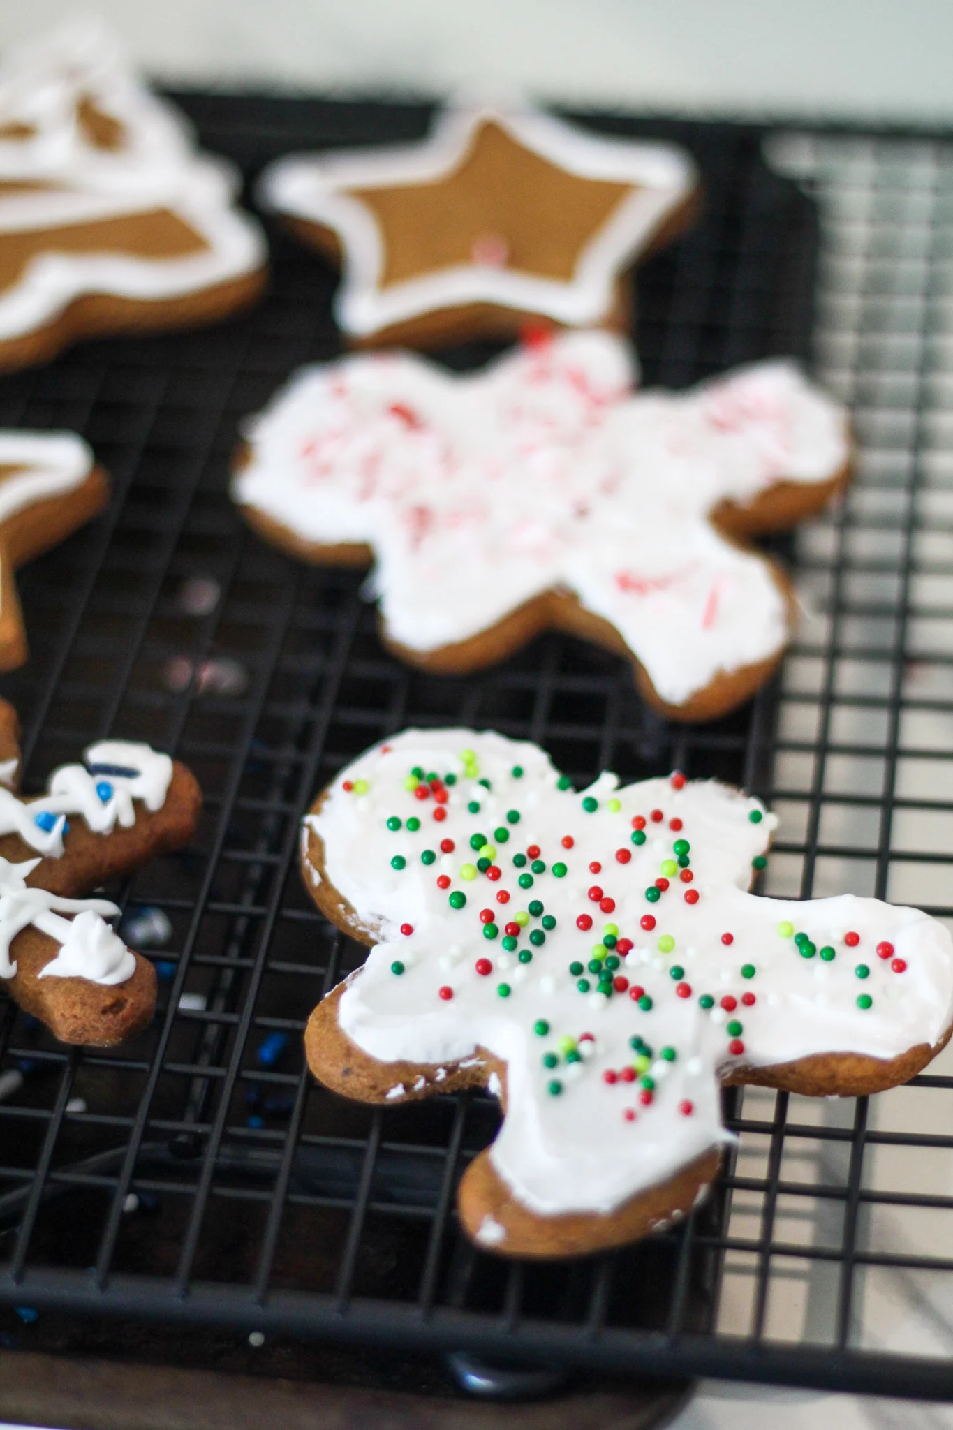
M 114 126 L 96 143 L 91 104 Z M 253 273 L 266 259 L 259 226 L 234 204 L 230 164 L 197 154 L 184 119 L 150 94 L 100 24 L 66 24 L 13 50 L 0 67 L 0 235 L 63 229 L 170 210 L 204 247 L 180 257 L 50 252 L 0 295 L 0 340 L 40 327 L 83 293 L 169 299 Z M 49 187 L 23 187 L 41 184 Z

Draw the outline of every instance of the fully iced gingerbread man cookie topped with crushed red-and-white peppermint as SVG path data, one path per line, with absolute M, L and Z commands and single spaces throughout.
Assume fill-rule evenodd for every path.
M 306 368 L 246 425 L 233 496 L 307 561 L 376 558 L 383 636 L 443 674 L 554 626 L 710 719 L 772 674 L 790 588 L 744 545 L 846 480 L 847 419 L 787 362 L 633 392 L 627 345 L 563 333 L 454 376 L 410 353 Z

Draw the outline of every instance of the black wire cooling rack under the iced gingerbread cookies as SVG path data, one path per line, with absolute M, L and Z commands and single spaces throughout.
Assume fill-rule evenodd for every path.
M 413 137 L 427 117 L 406 106 L 179 97 L 207 147 L 249 177 L 294 149 Z M 640 276 L 646 379 L 684 386 L 733 363 L 804 353 L 816 209 L 763 163 L 762 132 L 590 122 L 676 137 L 704 173 L 700 223 Z M 799 149 L 790 139 L 780 162 L 820 192 L 840 180 L 824 180 L 827 160 L 812 143 L 820 142 L 807 136 Z M 461 1168 L 496 1131 L 490 1098 L 346 1104 L 311 1083 L 301 1055 L 309 1011 L 360 951 L 300 887 L 299 821 L 344 762 L 407 724 L 536 739 L 577 782 L 602 768 L 634 779 L 677 766 L 744 784 L 784 814 L 780 874 L 769 875 L 783 882 L 786 869 L 789 878 L 800 869 L 804 895 L 832 861 L 857 855 L 856 834 L 826 825 L 830 811 L 860 809 L 860 864 L 873 861 L 869 882 L 884 892 L 892 815 L 917 798 L 934 812 L 953 809 L 953 791 L 904 804 L 897 784 L 913 738 L 904 719 L 924 705 L 943 718 L 953 711 L 953 691 L 917 695 L 907 685 L 916 455 L 899 505 L 879 509 L 862 483 L 807 539 L 806 593 L 820 615 L 806 616 L 784 686 L 732 718 L 669 725 L 639 702 L 623 662 L 557 635 L 477 678 L 410 672 L 381 651 L 360 578 L 284 559 L 246 531 L 226 495 L 239 419 L 294 366 L 339 350 L 331 275 L 280 235 L 273 240 L 271 290 L 249 315 L 199 333 L 83 345 L 0 382 L 0 425 L 83 432 L 113 476 L 106 515 L 20 578 L 31 659 L 3 694 L 23 718 L 27 788 L 89 741 L 117 734 L 174 751 L 206 792 L 194 847 L 119 891 L 130 941 L 160 971 L 151 1028 L 96 1052 L 54 1044 L 11 1005 L 0 1018 L 0 1306 L 13 1308 L 4 1324 L 23 1344 L 43 1317 L 70 1313 L 587 1371 L 953 1394 L 942 1354 L 873 1348 L 857 1328 L 863 1268 L 892 1264 L 890 1248 L 869 1238 L 873 1201 L 953 1214 L 953 1198 L 913 1177 L 872 1190 L 876 1140 L 949 1155 L 953 1137 L 909 1124 L 879 1131 L 864 1101 L 850 1103 L 846 1118 L 824 1118 L 804 1111 L 806 1100 L 736 1094 L 737 1161 L 677 1231 L 612 1256 L 519 1266 L 473 1250 L 453 1210 Z M 862 259 L 874 265 L 867 240 Z M 864 285 L 876 292 L 877 282 L 876 265 L 863 263 L 860 307 Z M 853 332 L 856 310 L 850 320 Z M 832 323 L 822 312 L 824 333 Z M 863 323 L 860 333 L 844 359 L 854 376 Z M 489 353 L 480 345 L 447 360 L 464 368 Z M 846 395 L 862 400 L 862 385 Z M 920 410 L 916 393 L 904 400 Z M 906 428 L 903 440 L 914 450 L 917 432 Z M 872 553 L 864 539 L 874 533 L 876 546 L 877 532 L 893 546 Z M 953 551 L 932 559 L 953 579 Z M 894 585 L 870 595 L 864 573 Z M 887 684 L 873 694 L 844 674 L 864 658 L 863 621 L 882 626 Z M 873 712 L 883 729 L 844 734 L 844 709 Z M 830 786 L 844 758 L 879 759 L 880 784 Z M 937 867 L 942 857 L 934 847 Z M 924 901 L 950 912 L 943 899 Z M 949 1087 L 926 1075 L 903 1095 L 919 1107 L 922 1090 L 949 1098 Z M 932 1125 L 947 1110 L 936 1104 Z M 812 1155 L 810 1174 L 792 1165 Z M 833 1220 L 806 1233 L 807 1205 L 833 1208 Z M 817 1266 L 829 1284 L 810 1280 Z M 953 1251 L 924 1251 L 917 1267 L 949 1277 Z M 832 1324 L 804 1318 L 797 1286 L 792 1316 L 779 1320 L 779 1294 L 799 1276 L 809 1301 L 833 1307 Z M 10 1336 L 0 1333 L 0 1344 Z

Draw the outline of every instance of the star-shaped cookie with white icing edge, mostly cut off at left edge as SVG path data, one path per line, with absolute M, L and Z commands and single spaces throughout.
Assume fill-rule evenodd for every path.
M 107 496 L 106 473 L 71 432 L 0 430 L 0 671 L 27 658 L 16 568 L 87 522 Z

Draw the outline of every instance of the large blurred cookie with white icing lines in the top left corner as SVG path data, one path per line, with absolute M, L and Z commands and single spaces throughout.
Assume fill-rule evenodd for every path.
M 90 21 L 0 67 L 0 369 L 79 337 L 211 322 L 263 286 L 231 167 Z

